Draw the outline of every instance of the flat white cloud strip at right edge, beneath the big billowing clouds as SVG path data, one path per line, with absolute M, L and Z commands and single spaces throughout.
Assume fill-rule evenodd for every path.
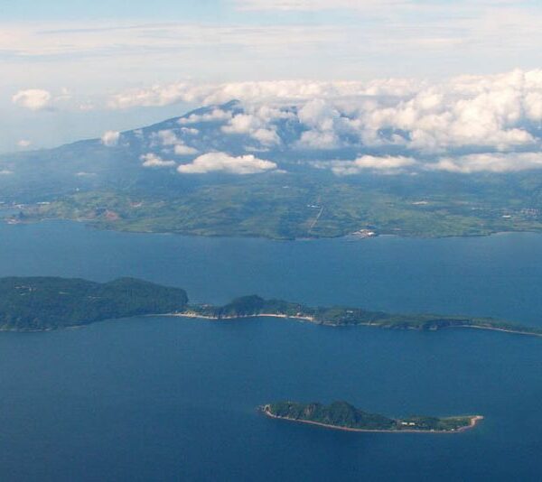
M 516 172 L 542 168 L 542 153 L 480 153 L 445 157 L 426 169 L 459 172 Z

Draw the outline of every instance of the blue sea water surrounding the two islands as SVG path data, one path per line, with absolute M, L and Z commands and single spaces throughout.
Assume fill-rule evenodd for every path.
M 192 300 L 313 304 L 540 324 L 542 236 L 274 242 L 0 226 L 0 275 L 132 275 Z M 107 321 L 0 334 L 2 480 L 539 480 L 542 341 L 479 330 L 291 320 Z M 461 434 L 329 431 L 277 399 L 388 415 L 471 414 Z

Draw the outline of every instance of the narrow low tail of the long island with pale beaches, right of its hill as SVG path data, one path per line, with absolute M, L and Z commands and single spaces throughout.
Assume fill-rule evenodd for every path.
M 309 307 L 282 300 L 264 300 L 257 295 L 237 298 L 224 306 L 191 305 L 186 314 L 213 319 L 246 318 L 251 316 L 280 316 L 309 320 L 320 325 L 368 325 L 387 329 L 436 330 L 445 328 L 499 329 L 542 336 L 542 329 L 521 326 L 491 318 L 443 316 L 432 314 L 390 314 L 383 311 L 366 311 L 344 306 Z

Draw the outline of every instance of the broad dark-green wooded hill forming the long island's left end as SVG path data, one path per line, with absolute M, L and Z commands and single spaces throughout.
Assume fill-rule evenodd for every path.
M 0 279 L 0 329 L 36 331 L 94 321 L 182 311 L 188 298 L 132 278 L 93 283 L 65 278 Z

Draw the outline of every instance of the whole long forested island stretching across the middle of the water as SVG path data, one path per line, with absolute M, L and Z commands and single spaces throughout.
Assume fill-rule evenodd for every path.
M 334 327 L 371 326 L 387 329 L 493 329 L 542 336 L 542 329 L 491 318 L 435 314 L 390 314 L 345 306 L 310 307 L 257 295 L 236 298 L 223 306 L 189 304 L 181 288 L 134 278 L 95 283 L 78 278 L 0 278 L 0 329 L 39 331 L 77 327 L 101 320 L 141 315 L 173 315 L 209 320 L 274 317 Z

